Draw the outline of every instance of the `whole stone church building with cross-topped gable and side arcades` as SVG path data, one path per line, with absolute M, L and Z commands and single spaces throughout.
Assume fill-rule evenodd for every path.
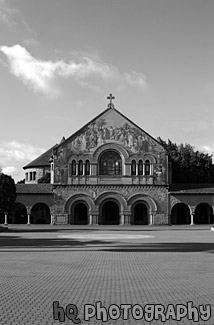
M 213 222 L 214 188 L 205 187 L 202 199 L 194 199 L 199 194 L 194 186 L 173 188 L 164 148 L 118 111 L 113 99 L 110 94 L 106 110 L 24 167 L 11 223 Z M 49 184 L 41 182 L 45 177 Z

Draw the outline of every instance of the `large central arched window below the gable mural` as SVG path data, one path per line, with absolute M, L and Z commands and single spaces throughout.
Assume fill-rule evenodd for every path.
M 106 151 L 100 157 L 100 175 L 122 175 L 122 159 L 116 151 Z

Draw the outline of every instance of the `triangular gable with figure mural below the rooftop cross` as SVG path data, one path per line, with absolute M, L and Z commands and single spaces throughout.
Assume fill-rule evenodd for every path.
M 112 107 L 87 123 L 58 148 L 67 147 L 70 154 L 90 154 L 105 143 L 121 144 L 130 154 L 164 152 L 157 140 Z

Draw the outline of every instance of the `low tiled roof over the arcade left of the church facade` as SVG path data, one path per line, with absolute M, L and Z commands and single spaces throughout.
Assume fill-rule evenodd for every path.
M 17 194 L 52 194 L 52 184 L 16 184 Z

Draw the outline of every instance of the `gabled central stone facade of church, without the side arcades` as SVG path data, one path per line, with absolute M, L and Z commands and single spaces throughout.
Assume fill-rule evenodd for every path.
M 87 224 L 168 223 L 166 152 L 113 105 L 54 148 L 52 170 L 55 223 L 84 206 Z

